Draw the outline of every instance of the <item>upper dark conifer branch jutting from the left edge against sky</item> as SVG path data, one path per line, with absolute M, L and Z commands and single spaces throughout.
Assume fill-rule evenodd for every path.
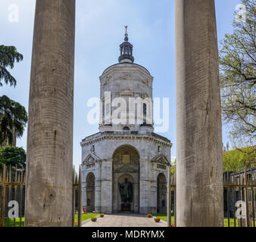
M 2 80 L 6 84 L 16 85 L 16 79 L 11 76 L 11 73 L 6 68 L 13 69 L 14 62 L 19 62 L 20 60 L 23 60 L 23 55 L 17 52 L 14 46 L 0 45 L 0 86 L 2 86 Z

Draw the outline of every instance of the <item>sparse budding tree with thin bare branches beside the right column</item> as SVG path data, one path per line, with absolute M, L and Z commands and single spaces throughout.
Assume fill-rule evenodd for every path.
M 226 34 L 219 51 L 223 121 L 236 147 L 253 146 L 256 130 L 256 1 L 242 4 L 246 20 L 234 20 L 233 34 Z

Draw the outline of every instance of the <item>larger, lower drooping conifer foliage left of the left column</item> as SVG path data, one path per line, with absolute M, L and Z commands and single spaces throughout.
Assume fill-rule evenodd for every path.
M 0 145 L 5 141 L 11 144 L 14 132 L 20 138 L 26 124 L 27 111 L 25 107 L 5 95 L 0 97 Z

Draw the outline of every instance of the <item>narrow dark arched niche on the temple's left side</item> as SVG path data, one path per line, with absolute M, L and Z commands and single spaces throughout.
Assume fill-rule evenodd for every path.
M 90 172 L 86 176 L 86 211 L 95 210 L 95 175 Z

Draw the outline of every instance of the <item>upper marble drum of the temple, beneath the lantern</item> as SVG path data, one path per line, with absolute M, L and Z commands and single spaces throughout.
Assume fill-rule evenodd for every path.
M 145 98 L 152 99 L 152 82 L 153 77 L 150 75 L 148 70 L 144 67 L 139 66 L 138 64 L 115 64 L 111 67 L 108 67 L 107 70 L 100 76 L 101 82 L 101 101 L 105 101 L 105 92 L 111 92 L 111 99 L 108 99 L 113 104 L 114 98 L 125 98 L 126 100 L 126 110 L 129 106 L 129 98 Z M 105 106 L 106 105 L 106 106 Z M 130 130 L 140 130 L 140 129 L 150 129 L 153 132 L 153 126 L 140 126 L 140 124 L 134 124 L 128 122 L 128 116 L 126 116 L 126 122 L 122 124 L 114 124 L 113 112 L 117 107 L 111 107 L 108 111 L 107 101 L 106 104 L 103 104 L 103 120 L 106 123 L 111 123 L 111 126 L 100 125 L 100 131 L 104 130 L 122 130 L 124 126 L 128 126 Z M 129 110 L 133 108 L 129 107 Z M 147 112 L 152 113 L 152 107 L 147 104 Z M 111 115 L 111 116 L 109 116 Z M 139 117 L 134 115 L 136 120 L 139 120 Z M 143 123 L 143 117 L 140 119 Z M 106 124 L 105 123 L 105 124 Z

